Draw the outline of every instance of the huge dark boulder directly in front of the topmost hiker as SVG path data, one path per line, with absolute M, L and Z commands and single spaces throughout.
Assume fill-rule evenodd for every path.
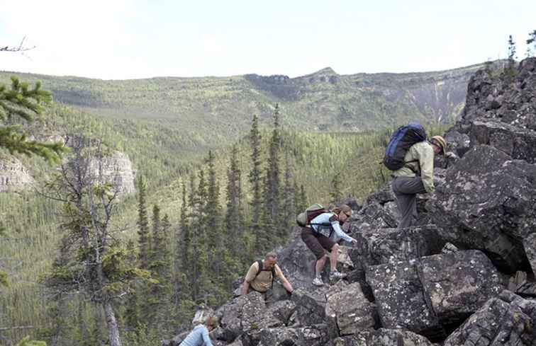
M 529 266 L 523 239 L 536 231 L 535 182 L 535 165 L 474 146 L 447 169 L 420 222 L 454 232 L 454 245 L 482 250 L 499 269 L 515 272 Z

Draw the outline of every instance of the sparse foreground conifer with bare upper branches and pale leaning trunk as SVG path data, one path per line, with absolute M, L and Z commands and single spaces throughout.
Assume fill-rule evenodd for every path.
M 44 281 L 56 292 L 80 292 L 98 303 L 104 311 L 109 345 L 120 346 L 114 301 L 128 294 L 134 279 L 149 275 L 126 263 L 126 251 L 117 236 L 123 230 L 111 226 L 118 188 L 99 183 L 104 181 L 100 144 L 93 149 L 91 142 L 82 139 L 73 151 L 74 157 L 62 164 L 49 184 L 52 198 L 63 202 L 60 230 L 69 238 L 65 249 L 69 260 L 52 268 Z M 96 170 L 91 168 L 94 160 Z

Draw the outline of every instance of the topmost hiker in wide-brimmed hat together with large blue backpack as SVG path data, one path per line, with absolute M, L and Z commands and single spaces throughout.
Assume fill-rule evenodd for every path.
M 426 139 L 425 129 L 415 122 L 399 127 L 387 144 L 384 164 L 392 173 L 393 192 L 401 219 L 398 229 L 409 227 L 417 217 L 417 194 L 434 192 L 434 156 L 445 154 L 441 136 Z

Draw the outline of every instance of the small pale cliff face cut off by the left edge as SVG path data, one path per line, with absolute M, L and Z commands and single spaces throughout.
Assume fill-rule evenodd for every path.
M 18 158 L 0 156 L 0 192 L 27 190 L 34 181 Z

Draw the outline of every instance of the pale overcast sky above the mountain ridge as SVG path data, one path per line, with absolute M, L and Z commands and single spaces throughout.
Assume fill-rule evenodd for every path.
M 525 57 L 536 1 L 0 0 L 0 70 L 100 79 L 452 69 Z

